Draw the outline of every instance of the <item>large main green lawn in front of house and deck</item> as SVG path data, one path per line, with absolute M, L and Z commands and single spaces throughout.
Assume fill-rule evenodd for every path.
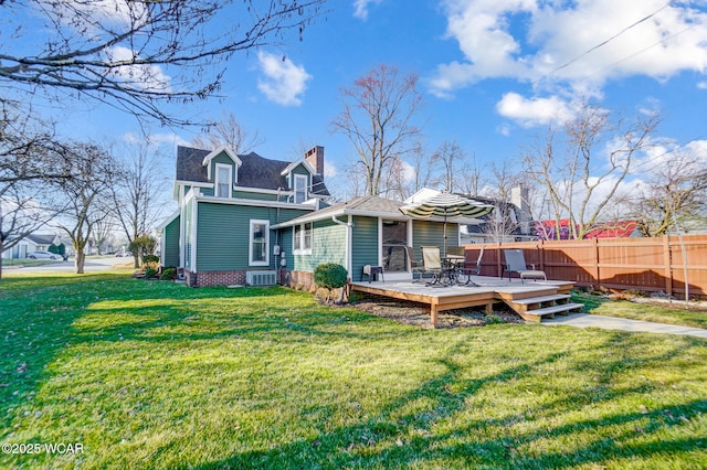
M 0 468 L 705 468 L 707 342 L 426 330 L 281 288 L 0 281 Z

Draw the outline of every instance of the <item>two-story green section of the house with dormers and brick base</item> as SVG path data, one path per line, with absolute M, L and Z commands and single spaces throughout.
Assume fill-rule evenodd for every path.
M 272 227 L 327 206 L 324 148 L 288 162 L 178 147 L 173 196 L 178 210 L 159 227 L 162 266 L 194 287 L 275 284 L 286 245 Z

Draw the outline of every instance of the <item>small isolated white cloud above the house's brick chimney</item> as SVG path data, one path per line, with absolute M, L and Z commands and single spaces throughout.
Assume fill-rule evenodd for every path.
M 284 106 L 299 106 L 300 95 L 312 78 L 304 66 L 295 65 L 289 58 L 258 52 L 257 60 L 265 78 L 258 79 L 257 88 L 271 102 Z

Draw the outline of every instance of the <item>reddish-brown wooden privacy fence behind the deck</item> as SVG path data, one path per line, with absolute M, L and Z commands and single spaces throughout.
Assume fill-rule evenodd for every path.
M 482 275 L 500 276 L 504 249 L 524 250 L 526 263 L 548 279 L 569 280 L 594 289 L 640 289 L 685 297 L 707 296 L 707 235 L 659 238 L 592 238 L 465 245 L 476 260 L 485 247 Z M 530 266 L 528 266 L 530 267 Z

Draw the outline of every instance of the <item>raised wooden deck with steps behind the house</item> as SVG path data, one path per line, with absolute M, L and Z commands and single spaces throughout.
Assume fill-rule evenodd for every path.
M 544 317 L 562 314 L 583 307 L 570 301 L 573 282 L 561 280 L 502 279 L 497 277 L 473 276 L 478 286 L 433 287 L 424 282 L 373 281 L 354 282 L 351 290 L 394 299 L 410 300 L 430 306 L 430 320 L 436 325 L 437 314 L 444 310 L 466 307 L 485 307 L 493 311 L 494 303 L 504 302 L 526 321 L 540 322 Z

